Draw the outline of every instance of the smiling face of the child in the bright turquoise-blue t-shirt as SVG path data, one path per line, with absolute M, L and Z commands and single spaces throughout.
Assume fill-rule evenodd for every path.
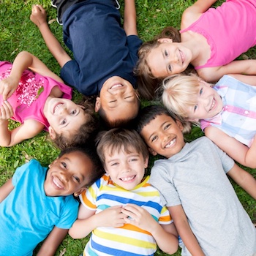
M 89 184 L 93 169 L 91 159 L 86 154 L 80 151 L 64 154 L 49 165 L 44 183 L 45 195 L 78 196 Z

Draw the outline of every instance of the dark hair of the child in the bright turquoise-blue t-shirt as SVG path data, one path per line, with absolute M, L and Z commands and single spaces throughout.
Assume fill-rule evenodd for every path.
M 65 148 L 64 150 L 61 151 L 59 157 L 62 157 L 64 154 L 69 154 L 75 151 L 85 154 L 86 157 L 88 157 L 91 160 L 91 163 L 93 165 L 91 170 L 91 177 L 89 179 L 89 183 L 85 185 L 85 187 L 90 187 L 92 184 L 94 184 L 95 181 L 97 181 L 98 178 L 100 178 L 105 173 L 105 170 L 103 169 L 102 164 L 97 155 L 94 143 L 90 143 L 90 146 L 75 146 Z

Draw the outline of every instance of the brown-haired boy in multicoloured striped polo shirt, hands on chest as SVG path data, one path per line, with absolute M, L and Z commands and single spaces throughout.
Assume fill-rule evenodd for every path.
M 83 195 L 72 238 L 91 233 L 86 255 L 154 255 L 157 245 L 173 254 L 176 228 L 157 189 L 148 184 L 148 148 L 137 132 L 111 129 L 99 138 L 97 153 L 106 174 Z

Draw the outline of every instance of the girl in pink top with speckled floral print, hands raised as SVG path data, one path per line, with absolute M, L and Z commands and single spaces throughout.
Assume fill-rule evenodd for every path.
M 13 146 L 43 129 L 59 148 L 83 143 L 95 129 L 93 108 L 71 98 L 72 89 L 31 53 L 19 53 L 13 64 L 1 61 L 0 146 Z M 10 118 L 20 126 L 10 130 Z

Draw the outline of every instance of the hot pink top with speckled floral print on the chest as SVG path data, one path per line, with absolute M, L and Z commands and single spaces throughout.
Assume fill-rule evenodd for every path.
M 0 80 L 8 78 L 11 69 L 12 64 L 0 61 Z M 21 124 L 34 119 L 45 125 L 45 130 L 48 131 L 49 123 L 43 114 L 43 108 L 54 86 L 58 86 L 63 92 L 62 98 L 72 99 L 72 89 L 69 86 L 26 69 L 20 78 L 18 89 L 7 99 L 14 111 L 12 119 Z M 0 105 L 2 102 L 0 94 Z

